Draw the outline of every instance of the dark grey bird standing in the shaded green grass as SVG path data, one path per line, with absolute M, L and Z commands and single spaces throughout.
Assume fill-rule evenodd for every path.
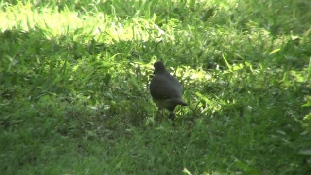
M 165 69 L 162 61 L 156 61 L 154 67 L 154 77 L 149 86 L 150 94 L 157 108 L 169 110 L 170 118 L 173 119 L 173 112 L 177 105 L 188 106 L 181 99 L 183 88 L 179 81 Z

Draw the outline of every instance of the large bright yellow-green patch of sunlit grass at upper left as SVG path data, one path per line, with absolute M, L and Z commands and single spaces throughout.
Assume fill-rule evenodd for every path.
M 112 7 L 111 7 L 112 8 Z M 34 9 L 30 3 L 18 4 L 13 7 L 5 7 L 6 11 L 0 12 L 0 30 L 16 28 L 29 31 L 40 28 L 47 32 L 47 38 L 53 36 L 82 33 L 98 41 L 119 40 L 148 40 L 165 34 L 151 19 L 133 18 L 123 20 L 108 16 L 104 13 L 96 15 L 84 15 L 78 12 L 70 12 L 68 9 L 58 12 L 48 8 Z

